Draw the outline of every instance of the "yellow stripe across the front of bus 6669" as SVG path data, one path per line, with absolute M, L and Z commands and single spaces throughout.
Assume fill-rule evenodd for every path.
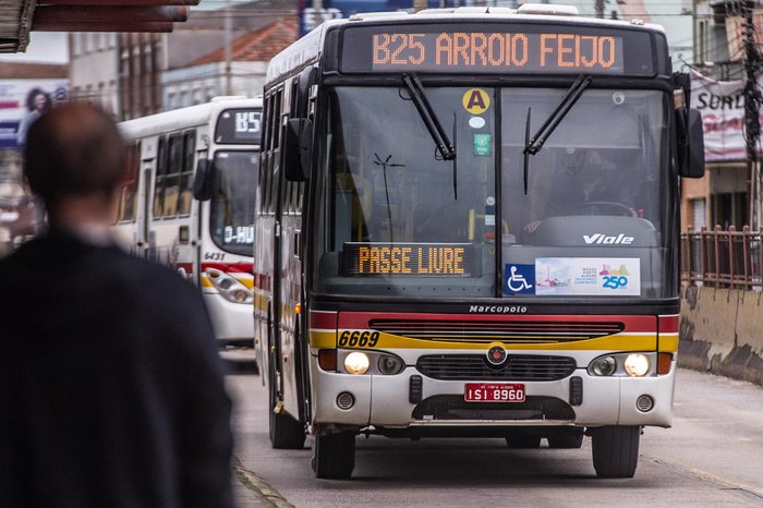
M 496 340 L 496 342 L 500 342 Z M 337 332 L 332 330 L 311 330 L 310 343 L 313 348 L 336 348 Z M 655 335 L 607 336 L 596 339 L 577 340 L 571 342 L 545 343 L 506 343 L 507 349 L 526 351 L 650 351 L 657 346 Z M 486 343 L 449 342 L 444 340 L 421 340 L 380 334 L 378 342 L 365 349 L 463 349 L 484 351 Z M 663 336 L 659 339 L 659 351 L 675 352 L 678 350 L 678 337 Z

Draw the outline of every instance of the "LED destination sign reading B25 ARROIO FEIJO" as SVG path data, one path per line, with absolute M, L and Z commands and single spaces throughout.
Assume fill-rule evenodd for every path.
M 640 50 L 639 50 L 640 47 Z M 651 35 L 564 25 L 402 25 L 344 31 L 343 72 L 651 75 Z

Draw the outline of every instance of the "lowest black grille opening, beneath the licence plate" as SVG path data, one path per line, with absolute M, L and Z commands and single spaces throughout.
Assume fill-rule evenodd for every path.
M 414 420 L 566 420 L 574 410 L 555 397 L 529 396 L 524 402 L 467 402 L 460 395 L 428 397 L 415 408 Z

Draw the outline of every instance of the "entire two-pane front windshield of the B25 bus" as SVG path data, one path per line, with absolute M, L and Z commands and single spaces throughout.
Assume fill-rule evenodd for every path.
M 661 199 L 667 95 L 585 89 L 530 156 L 525 193 L 525 131 L 537 131 L 565 92 L 426 87 L 452 133 L 456 160 L 443 160 L 405 87 L 328 90 L 318 288 L 446 299 L 673 295 Z

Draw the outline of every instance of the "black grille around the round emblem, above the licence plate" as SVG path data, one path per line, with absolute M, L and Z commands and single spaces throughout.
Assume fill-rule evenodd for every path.
M 558 380 L 576 367 L 569 356 L 529 354 L 509 355 L 502 365 L 491 365 L 484 354 L 431 354 L 416 362 L 420 373 L 445 380 Z

